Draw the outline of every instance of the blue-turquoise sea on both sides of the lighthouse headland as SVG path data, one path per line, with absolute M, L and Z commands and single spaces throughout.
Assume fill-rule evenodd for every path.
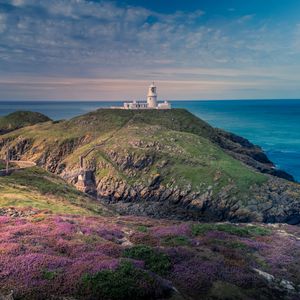
M 0 115 L 16 110 L 38 111 L 54 120 L 68 119 L 122 102 L 0 102 Z M 260 145 L 280 169 L 300 181 L 300 100 L 173 101 L 214 127 Z

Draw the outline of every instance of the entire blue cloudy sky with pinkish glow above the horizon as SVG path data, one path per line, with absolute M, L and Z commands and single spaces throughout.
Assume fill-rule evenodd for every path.
M 0 101 L 300 99 L 299 0 L 0 0 Z

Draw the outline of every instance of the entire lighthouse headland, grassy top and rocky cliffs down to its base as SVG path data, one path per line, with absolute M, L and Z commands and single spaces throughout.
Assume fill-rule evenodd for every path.
M 2 135 L 1 153 L 8 147 L 120 213 L 300 223 L 300 186 L 289 174 L 186 110 L 101 109 Z

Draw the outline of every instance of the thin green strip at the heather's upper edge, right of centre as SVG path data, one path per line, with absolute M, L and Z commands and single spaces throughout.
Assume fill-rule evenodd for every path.
M 272 234 L 272 230 L 262 226 L 237 226 L 234 224 L 193 224 L 194 236 L 205 235 L 210 231 L 222 231 L 237 236 L 264 236 Z

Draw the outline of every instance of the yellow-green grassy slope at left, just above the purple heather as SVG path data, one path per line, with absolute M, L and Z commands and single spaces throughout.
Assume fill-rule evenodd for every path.
M 58 176 L 34 167 L 0 177 L 0 207 L 32 207 L 52 213 L 106 214 L 107 210 Z

